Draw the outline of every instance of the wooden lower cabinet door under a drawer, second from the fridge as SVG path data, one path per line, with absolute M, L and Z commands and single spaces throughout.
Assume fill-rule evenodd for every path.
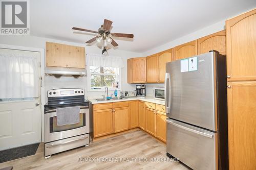
M 156 110 L 146 108 L 146 132 L 156 136 Z

